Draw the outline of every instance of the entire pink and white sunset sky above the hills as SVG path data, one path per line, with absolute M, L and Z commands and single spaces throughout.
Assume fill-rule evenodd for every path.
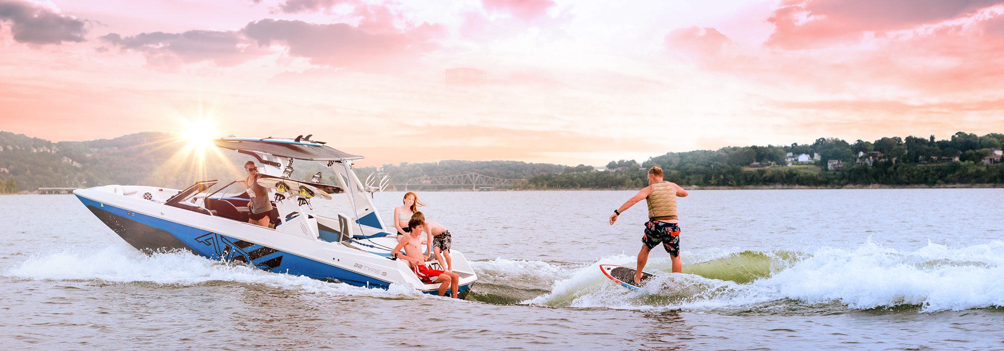
M 604 165 L 1004 132 L 1004 0 L 0 0 L 0 130 Z

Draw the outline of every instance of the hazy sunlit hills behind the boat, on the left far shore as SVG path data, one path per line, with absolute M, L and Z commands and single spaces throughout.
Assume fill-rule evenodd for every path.
M 60 141 L 0 131 L 0 193 L 31 192 L 38 188 L 89 188 L 104 185 L 151 185 L 184 188 L 196 181 L 230 181 L 243 177 L 244 161 L 253 157 L 216 148 L 199 161 L 185 152 L 185 140 L 162 132 L 141 132 L 113 139 Z M 214 148 L 214 147 L 211 147 Z M 200 168 L 203 164 L 205 168 Z M 317 162 L 296 162 L 293 177 L 308 179 L 324 167 Z M 384 164 L 392 185 L 411 178 L 479 172 L 489 177 L 528 179 L 559 172 L 564 165 L 521 161 L 444 160 L 439 162 Z M 589 167 L 591 169 L 591 167 Z M 355 169 L 360 179 L 376 167 Z M 325 182 L 334 183 L 330 172 Z

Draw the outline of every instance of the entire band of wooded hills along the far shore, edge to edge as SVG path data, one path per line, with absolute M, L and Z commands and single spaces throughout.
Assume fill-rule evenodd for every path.
M 513 160 L 442 160 L 438 162 L 356 167 L 364 180 L 371 172 L 391 174 L 391 184 L 405 185 L 421 177 L 478 172 L 522 180 L 517 189 L 635 189 L 644 187 L 645 168 L 654 164 L 668 180 L 688 186 L 809 186 L 1004 184 L 1004 166 L 985 165 L 993 149 L 1002 148 L 1004 134 L 958 132 L 949 139 L 907 136 L 847 142 L 818 138 L 790 145 L 728 146 L 717 150 L 668 152 L 639 163 L 611 160 L 608 171 L 592 166 L 531 163 Z M 243 177 L 240 165 L 251 157 L 232 151 L 216 152 L 204 160 L 178 152 L 184 143 L 161 132 L 143 132 L 113 139 L 51 142 L 0 131 L 0 192 L 33 191 L 40 187 L 96 187 L 110 184 L 185 188 L 195 181 L 229 183 Z M 789 161 L 798 154 L 816 155 L 804 164 Z M 867 162 L 859 162 L 868 160 Z M 829 160 L 843 162 L 825 170 Z M 195 167 L 197 163 L 202 163 Z M 751 167 L 751 163 L 769 165 Z M 296 162 L 293 177 L 309 179 L 322 170 L 315 162 Z M 198 170 L 198 171 L 194 171 Z M 329 173 L 325 182 L 336 184 Z

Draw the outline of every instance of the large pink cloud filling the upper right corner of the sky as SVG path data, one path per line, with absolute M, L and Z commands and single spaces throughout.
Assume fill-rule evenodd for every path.
M 883 98 L 915 96 L 916 101 L 930 101 L 935 93 L 942 100 L 968 102 L 1004 93 L 999 83 L 1004 79 L 1004 11 L 971 10 L 983 5 L 934 6 L 932 13 L 921 14 L 904 6 L 908 14 L 893 16 L 890 23 L 877 23 L 871 14 L 844 20 L 850 10 L 823 8 L 829 12 L 799 24 L 778 18 L 804 16 L 794 12 L 807 5 L 786 2 L 774 12 L 777 27 L 762 47 L 734 45 L 714 28 L 699 27 L 674 30 L 665 43 L 670 53 L 683 50 L 703 69 L 780 91 L 840 95 L 835 99 L 881 92 Z M 844 22 L 850 24 L 838 24 Z M 864 30 L 880 29 L 888 31 L 861 41 Z

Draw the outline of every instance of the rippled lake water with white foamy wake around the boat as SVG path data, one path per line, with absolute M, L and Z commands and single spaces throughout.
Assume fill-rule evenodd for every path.
M 421 193 L 466 301 L 146 256 L 72 196 L 0 197 L 0 344 L 29 349 L 1004 349 L 1004 190 L 694 191 L 643 291 L 634 192 Z M 387 223 L 401 193 L 376 194 Z M 337 212 L 315 201 L 322 215 Z

